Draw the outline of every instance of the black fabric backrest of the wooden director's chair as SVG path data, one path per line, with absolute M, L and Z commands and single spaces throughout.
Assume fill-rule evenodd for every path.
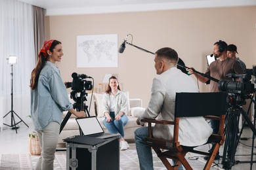
M 176 93 L 175 117 L 226 114 L 228 93 Z

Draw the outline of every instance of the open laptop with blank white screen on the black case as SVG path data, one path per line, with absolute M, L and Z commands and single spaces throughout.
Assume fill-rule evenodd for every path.
M 96 116 L 90 116 L 86 118 L 75 119 L 84 136 L 97 137 L 100 139 L 107 139 L 110 137 L 116 137 L 119 134 L 105 133 L 102 129 L 100 122 Z

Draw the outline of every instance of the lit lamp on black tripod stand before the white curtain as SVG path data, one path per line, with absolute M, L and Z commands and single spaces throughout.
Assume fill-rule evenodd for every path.
M 17 129 L 19 127 L 17 127 L 16 125 L 19 124 L 20 122 L 23 122 L 26 126 L 28 126 L 21 118 L 20 116 L 18 116 L 16 114 L 16 112 L 14 112 L 13 110 L 13 64 L 16 64 L 17 63 L 17 57 L 16 56 L 9 56 L 9 58 L 7 58 L 8 60 L 8 63 L 11 65 L 11 84 L 12 84 L 12 90 L 11 90 L 11 110 L 5 114 L 5 116 L 3 116 L 3 118 L 5 118 L 9 113 L 11 113 L 11 125 L 8 125 L 8 124 L 4 124 L 6 126 L 9 126 L 9 127 L 12 127 L 12 129 L 15 129 L 16 130 L 16 133 L 17 133 Z M 14 119 L 14 114 L 20 119 L 20 122 L 15 122 L 15 119 Z

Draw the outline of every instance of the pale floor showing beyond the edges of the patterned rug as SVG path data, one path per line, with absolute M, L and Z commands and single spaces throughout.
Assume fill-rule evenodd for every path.
M 33 131 L 33 124 L 28 123 L 26 127 L 24 124 L 20 125 L 17 129 L 18 133 L 10 127 L 5 127 L 3 131 L 0 131 L 0 154 L 24 154 L 28 153 L 28 133 Z M 251 158 L 252 148 L 252 131 L 249 127 L 245 127 L 242 133 L 243 139 L 240 140 L 238 148 L 236 150 L 236 161 L 249 161 Z M 254 146 L 256 143 L 254 142 Z M 208 149 L 209 146 L 203 146 L 203 149 Z M 223 146 L 221 146 L 220 153 L 223 154 Z M 256 161 L 256 149 L 253 150 L 253 161 Z M 216 161 L 215 161 L 216 162 Z M 221 160 L 219 162 L 219 169 Z M 232 169 L 251 169 L 250 163 L 238 163 L 232 166 Z M 252 169 L 256 169 L 256 163 L 253 163 Z

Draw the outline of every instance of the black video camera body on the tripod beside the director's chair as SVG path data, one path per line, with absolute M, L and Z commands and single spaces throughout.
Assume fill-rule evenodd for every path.
M 237 95 L 248 95 L 255 92 L 254 84 L 250 80 L 251 76 L 256 76 L 256 66 L 253 69 L 245 69 L 243 75 L 230 73 L 226 76 L 232 78 L 233 81 L 219 80 L 218 88 L 220 91 L 235 93 Z M 237 78 L 240 78 L 240 81 L 235 81 Z

